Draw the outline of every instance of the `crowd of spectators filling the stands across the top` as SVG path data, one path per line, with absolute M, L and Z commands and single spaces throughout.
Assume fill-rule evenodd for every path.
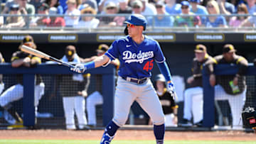
M 246 16 L 246 14 L 252 15 L 256 12 L 255 0 L 2 1 L 1 14 L 9 14 L 9 16 L 0 16 L 0 27 L 3 28 L 123 26 L 123 22 L 131 13 L 140 13 L 146 16 L 149 26 L 154 27 L 239 28 L 252 27 L 256 23 L 255 16 Z M 33 16 L 34 14 L 43 14 L 44 16 Z M 231 14 L 240 14 L 241 16 L 232 16 Z

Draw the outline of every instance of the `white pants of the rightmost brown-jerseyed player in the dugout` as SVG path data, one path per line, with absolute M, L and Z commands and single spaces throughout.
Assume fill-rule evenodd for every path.
M 228 100 L 233 117 L 233 126 L 242 126 L 241 113 L 245 105 L 246 89 L 241 94 L 230 95 L 220 85 L 215 86 L 215 100 Z

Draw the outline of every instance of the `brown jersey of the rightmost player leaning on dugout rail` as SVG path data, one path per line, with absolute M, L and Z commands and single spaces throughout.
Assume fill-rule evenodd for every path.
M 245 57 L 235 55 L 234 59 L 230 62 L 226 61 L 223 55 L 215 56 L 214 59 L 218 64 L 234 64 L 239 65 L 238 74 L 233 75 L 220 75 L 217 77 L 217 83 L 225 90 L 227 94 L 233 94 L 233 89 L 230 87 L 230 81 L 233 81 L 234 77 L 238 77 L 238 88 L 239 92 L 235 94 L 241 94 L 245 90 L 245 73 L 247 70 L 247 60 Z

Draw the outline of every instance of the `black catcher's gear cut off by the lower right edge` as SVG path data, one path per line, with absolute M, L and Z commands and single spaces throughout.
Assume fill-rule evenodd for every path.
M 253 107 L 247 107 L 242 111 L 242 124 L 245 128 L 253 128 L 256 130 L 256 111 Z

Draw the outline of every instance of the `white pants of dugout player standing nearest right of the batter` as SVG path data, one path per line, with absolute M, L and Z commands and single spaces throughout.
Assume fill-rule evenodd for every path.
M 193 114 L 193 123 L 203 120 L 203 88 L 192 87 L 185 90 L 184 94 L 184 116 L 191 120 Z

